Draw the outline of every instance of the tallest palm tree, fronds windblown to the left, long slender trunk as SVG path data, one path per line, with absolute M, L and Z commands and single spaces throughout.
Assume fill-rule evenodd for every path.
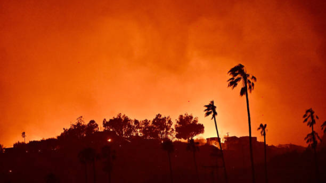
M 232 90 L 237 87 L 238 83 L 242 83 L 242 88 L 240 90 L 240 96 L 245 95 L 247 102 L 247 113 L 248 113 L 248 125 L 249 125 L 249 147 L 250 147 L 250 161 L 251 161 L 251 176 L 252 182 L 255 183 L 255 167 L 254 167 L 254 156 L 252 152 L 252 142 L 251 142 L 251 121 L 250 121 L 250 111 L 249 111 L 249 100 L 248 100 L 248 91 L 251 93 L 254 90 L 256 77 L 252 74 L 247 74 L 247 71 L 244 69 L 242 64 L 238 64 L 231 68 L 228 72 L 231 78 L 228 80 L 228 87 L 231 87 Z

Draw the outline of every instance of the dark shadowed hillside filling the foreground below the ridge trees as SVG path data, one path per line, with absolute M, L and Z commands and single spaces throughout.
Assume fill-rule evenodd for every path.
M 111 182 L 171 182 L 167 151 L 161 142 L 150 139 L 134 139 L 130 142 L 112 138 L 111 142 L 79 141 L 60 144 L 59 140 L 47 139 L 38 145 L 18 148 L 2 153 L 0 158 L 1 182 L 109 182 L 107 157 L 103 157 L 102 147 L 111 147 Z M 89 143 L 89 144 L 87 144 Z M 174 142 L 170 153 L 173 182 L 198 182 L 193 153 L 187 150 L 187 143 Z M 81 162 L 78 156 L 86 147 L 95 150 L 94 163 Z M 26 152 L 26 149 L 28 152 Z M 214 146 L 202 145 L 195 152 L 200 182 L 225 182 L 223 164 L 219 151 Z M 245 159 L 249 160 L 249 147 Z M 263 149 L 262 149 L 263 151 Z M 258 154 L 258 153 L 256 153 Z M 215 155 L 215 156 L 214 156 Z M 319 171 L 326 172 L 325 146 L 318 149 Z M 241 152 L 224 153 L 229 182 L 251 182 L 250 161 L 243 162 Z M 263 157 L 255 157 L 263 159 Z M 288 152 L 268 156 L 269 182 L 314 182 L 315 172 L 313 151 Z M 245 160 L 247 161 L 247 160 Z M 256 181 L 264 182 L 264 164 L 256 163 Z M 216 167 L 217 165 L 217 167 Z M 243 166 L 245 165 L 245 166 Z M 11 171 L 11 172 L 9 172 Z M 94 172 L 96 179 L 94 180 Z M 85 175 L 87 174 L 87 181 Z M 323 174 L 321 174 L 323 175 Z M 321 176 L 321 182 L 325 177 Z

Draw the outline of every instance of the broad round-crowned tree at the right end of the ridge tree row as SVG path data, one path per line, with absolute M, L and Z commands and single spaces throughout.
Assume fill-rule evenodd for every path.
M 175 124 L 175 137 L 178 139 L 185 139 L 189 142 L 196 135 L 204 133 L 204 125 L 198 123 L 198 118 L 192 115 L 180 115 Z

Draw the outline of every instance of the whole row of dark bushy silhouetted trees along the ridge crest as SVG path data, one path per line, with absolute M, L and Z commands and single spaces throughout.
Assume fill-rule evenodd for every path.
M 170 116 L 162 116 L 157 114 L 153 120 L 136 120 L 131 119 L 125 114 L 119 113 L 111 119 L 103 120 L 103 131 L 115 132 L 123 138 L 131 138 L 132 136 L 140 136 L 144 139 L 184 139 L 190 140 L 199 134 L 204 133 L 204 125 L 199 123 L 198 117 L 191 114 L 179 115 L 173 128 L 173 122 Z M 60 138 L 77 138 L 82 139 L 85 136 L 99 131 L 98 124 L 95 120 L 90 120 L 87 124 L 82 116 L 69 128 L 58 136 Z

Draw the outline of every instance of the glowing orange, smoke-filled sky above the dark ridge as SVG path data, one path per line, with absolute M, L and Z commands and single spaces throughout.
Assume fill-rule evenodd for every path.
M 224 135 L 248 135 L 245 98 L 227 88 L 238 63 L 257 77 L 249 95 L 253 136 L 305 145 L 313 107 L 326 120 L 325 2 L 0 2 L 0 143 L 59 135 L 122 112 L 153 119 L 192 113 L 215 136 L 204 105 L 214 99 Z M 189 101 L 189 102 L 188 102 Z

